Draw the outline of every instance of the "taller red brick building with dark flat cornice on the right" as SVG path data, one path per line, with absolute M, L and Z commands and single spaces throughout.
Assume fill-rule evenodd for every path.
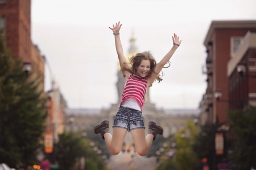
M 237 103 L 237 99 L 236 101 L 234 100 L 234 96 L 236 96 L 233 94 L 234 89 L 230 88 L 236 84 L 236 90 L 240 89 L 238 91 L 242 91 L 245 89 L 245 85 L 238 85 L 238 81 L 234 80 L 236 78 L 230 76 L 231 72 L 236 68 L 234 63 L 239 65 L 239 62 L 237 62 L 239 57 L 234 56 L 241 53 L 238 50 L 243 44 L 248 31 L 256 31 L 256 20 L 223 20 L 213 21 L 210 24 L 204 40 L 204 45 L 207 49 L 206 71 L 204 71 L 207 74 L 207 89 L 200 102 L 201 125 L 215 123 L 217 119 L 220 123 L 227 122 L 228 115 L 226 110 L 233 109 L 234 103 Z M 250 64 L 253 65 L 254 62 L 253 48 L 251 47 L 247 54 L 243 53 L 243 55 L 250 56 L 246 59 L 248 67 Z M 241 60 L 241 57 L 239 59 Z M 250 70 L 252 71 L 253 69 Z M 247 79 L 242 81 L 245 82 Z M 248 94 L 243 95 L 248 96 Z M 254 94 L 251 93 L 250 95 Z

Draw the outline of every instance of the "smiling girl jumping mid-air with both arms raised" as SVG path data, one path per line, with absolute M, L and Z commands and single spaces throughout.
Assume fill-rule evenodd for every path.
M 145 126 L 142 119 L 144 97 L 146 91 L 154 81 L 162 81 L 159 73 L 180 46 L 181 40 L 179 40 L 179 36 L 176 34 L 172 36 L 174 45 L 158 64 L 156 64 L 150 52 L 137 53 L 131 57 L 130 63 L 127 63 L 123 55 L 123 48 L 119 36 L 121 26 L 122 24 L 118 22 L 115 23 L 115 26 L 113 25 L 113 28 L 109 28 L 115 36 L 115 48 L 126 82 L 122 94 L 122 101 L 117 115 L 115 115 L 114 125 L 112 126 L 113 135 L 109 133 L 109 121 L 103 121 L 101 125 L 96 126 L 94 133 L 101 134 L 101 138 L 105 139 L 106 146 L 112 155 L 118 155 L 122 149 L 125 135 L 127 131 L 130 131 L 134 140 L 135 150 L 139 155 L 144 156 L 150 150 L 152 140 L 156 139 L 156 135 L 163 134 L 163 128 L 151 121 L 148 122 L 148 134 L 145 136 Z

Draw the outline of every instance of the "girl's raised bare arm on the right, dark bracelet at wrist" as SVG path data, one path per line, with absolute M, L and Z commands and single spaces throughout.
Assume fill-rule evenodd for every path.
M 166 56 L 164 56 L 163 59 L 156 65 L 154 72 L 151 74 L 151 77 L 148 78 L 148 81 L 150 82 L 149 86 L 151 86 L 151 84 L 155 81 L 155 78 L 158 77 L 158 74 L 160 73 L 160 71 L 162 71 L 164 65 L 166 65 L 168 61 L 171 59 L 172 55 L 179 47 L 178 45 L 181 44 L 181 40 L 179 39 L 179 36 L 177 36 L 176 34 L 172 36 L 172 41 L 175 43 L 174 46 L 172 46 L 171 50 L 166 54 Z

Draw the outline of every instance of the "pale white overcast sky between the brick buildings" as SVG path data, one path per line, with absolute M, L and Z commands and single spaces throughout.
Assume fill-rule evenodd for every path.
M 205 93 L 206 49 L 212 20 L 255 20 L 255 0 L 32 0 L 32 42 L 51 65 L 69 108 L 110 107 L 117 102 L 117 54 L 109 26 L 120 21 L 125 55 L 134 30 L 138 52 L 156 61 L 182 44 L 163 69 L 163 81 L 150 88 L 151 102 L 164 109 L 196 109 Z M 45 90 L 51 89 L 46 65 Z

